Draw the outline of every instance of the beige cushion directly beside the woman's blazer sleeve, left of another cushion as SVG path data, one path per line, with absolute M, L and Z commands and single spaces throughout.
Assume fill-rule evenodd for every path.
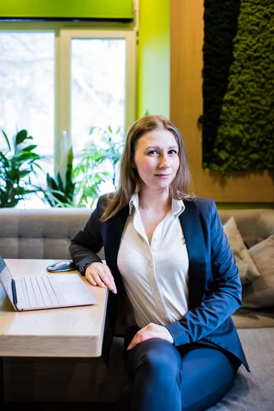
M 223 229 L 239 269 L 240 282 L 244 286 L 253 279 L 260 277 L 260 272 L 254 264 L 244 240 L 242 240 L 234 216 L 230 217 L 223 225 Z

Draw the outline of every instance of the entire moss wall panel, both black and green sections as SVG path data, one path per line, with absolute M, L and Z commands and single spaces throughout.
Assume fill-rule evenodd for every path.
M 273 51 L 272 0 L 205 1 L 205 168 L 274 169 Z

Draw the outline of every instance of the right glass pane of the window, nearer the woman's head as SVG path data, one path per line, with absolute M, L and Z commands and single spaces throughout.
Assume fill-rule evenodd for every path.
M 115 62 L 115 63 L 114 63 Z M 71 139 L 78 151 L 90 127 L 125 128 L 125 39 L 71 40 Z M 83 138 L 84 137 L 84 138 Z

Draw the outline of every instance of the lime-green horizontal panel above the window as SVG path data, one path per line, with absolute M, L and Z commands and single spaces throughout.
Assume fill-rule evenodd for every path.
M 132 18 L 132 0 L 12 0 L 0 2 L 10 18 Z

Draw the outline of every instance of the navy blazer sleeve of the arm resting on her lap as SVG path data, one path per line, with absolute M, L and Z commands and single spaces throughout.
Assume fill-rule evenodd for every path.
M 211 290 L 206 293 L 201 306 L 189 310 L 182 319 L 166 326 L 176 346 L 205 338 L 241 306 L 242 286 L 238 267 L 214 201 L 210 208 L 209 227 L 213 277 Z

